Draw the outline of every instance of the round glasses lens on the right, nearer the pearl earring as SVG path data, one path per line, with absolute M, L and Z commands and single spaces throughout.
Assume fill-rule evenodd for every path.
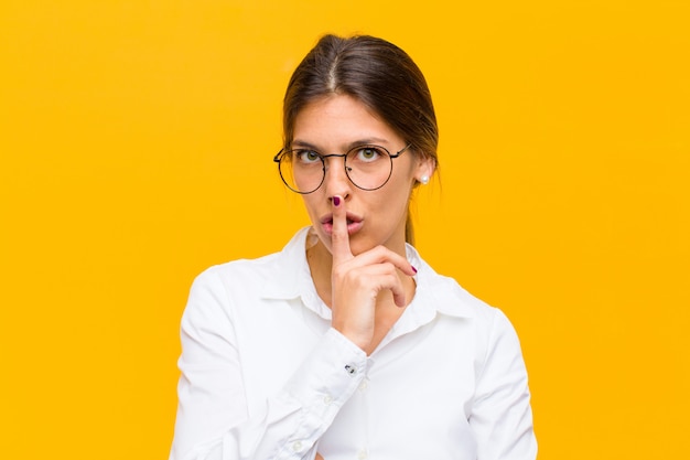
M 359 189 L 380 189 L 392 173 L 392 159 L 388 150 L 379 146 L 355 147 L 347 152 L 345 171 Z

